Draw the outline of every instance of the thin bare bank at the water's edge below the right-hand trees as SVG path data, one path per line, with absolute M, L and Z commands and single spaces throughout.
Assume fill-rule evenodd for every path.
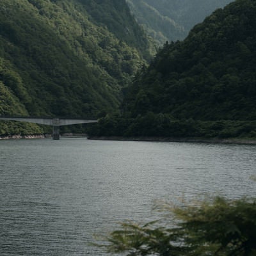
M 89 136 L 88 140 L 116 140 L 116 141 L 159 141 L 159 142 L 190 142 L 190 143 L 226 143 L 256 145 L 252 138 L 172 138 L 172 137 L 122 137 L 122 136 Z

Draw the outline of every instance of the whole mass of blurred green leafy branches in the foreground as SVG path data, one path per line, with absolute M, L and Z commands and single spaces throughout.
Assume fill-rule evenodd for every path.
M 106 237 L 111 253 L 127 256 L 255 256 L 256 200 L 216 197 L 198 205 L 168 207 L 173 218 L 137 225 L 126 221 Z M 175 224 L 175 227 L 173 227 Z M 171 227 L 171 228 L 169 228 Z

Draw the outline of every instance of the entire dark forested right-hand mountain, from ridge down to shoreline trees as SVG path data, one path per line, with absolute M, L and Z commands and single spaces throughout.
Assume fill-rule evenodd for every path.
M 255 137 L 256 2 L 218 9 L 134 77 L 122 115 L 92 134 Z

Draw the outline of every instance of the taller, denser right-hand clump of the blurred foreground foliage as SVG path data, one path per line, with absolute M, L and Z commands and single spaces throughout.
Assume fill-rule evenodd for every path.
M 212 203 L 173 211 L 182 220 L 180 228 L 186 234 L 186 243 L 196 248 L 193 255 L 255 255 L 255 200 L 217 197 Z

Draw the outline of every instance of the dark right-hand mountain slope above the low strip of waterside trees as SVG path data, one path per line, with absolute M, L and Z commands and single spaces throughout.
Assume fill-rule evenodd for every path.
M 255 1 L 237 0 L 166 44 L 132 86 L 130 110 L 142 113 L 145 97 L 145 109 L 177 118 L 255 119 L 255 12 Z

